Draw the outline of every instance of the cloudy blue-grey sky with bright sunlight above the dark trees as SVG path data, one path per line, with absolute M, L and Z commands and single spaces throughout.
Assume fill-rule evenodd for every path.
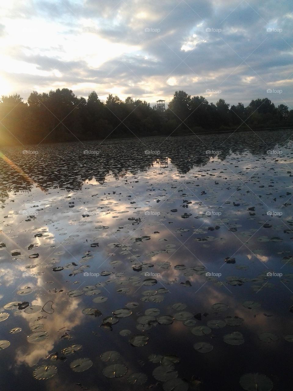
M 291 0 L 10 0 L 0 95 L 70 88 L 153 104 L 176 90 L 293 108 Z

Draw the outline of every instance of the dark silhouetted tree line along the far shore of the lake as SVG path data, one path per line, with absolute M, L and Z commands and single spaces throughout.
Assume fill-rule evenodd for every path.
M 216 104 L 202 96 L 176 91 L 164 120 L 156 106 L 110 94 L 102 102 L 92 91 L 88 99 L 68 88 L 49 93 L 33 91 L 27 102 L 19 94 L 0 100 L 1 143 L 46 143 L 136 136 L 184 135 L 204 131 L 229 131 L 293 126 L 293 110 L 268 98 L 255 99 L 245 107 Z

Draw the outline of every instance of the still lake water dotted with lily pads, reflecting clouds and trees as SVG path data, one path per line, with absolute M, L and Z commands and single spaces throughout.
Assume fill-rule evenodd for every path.
M 2 149 L 0 388 L 291 389 L 291 135 Z

